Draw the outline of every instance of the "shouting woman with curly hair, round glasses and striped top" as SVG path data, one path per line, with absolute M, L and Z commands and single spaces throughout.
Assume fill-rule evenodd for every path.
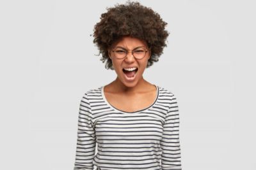
M 81 99 L 74 169 L 181 169 L 177 100 L 143 78 L 166 46 L 165 26 L 137 2 L 101 15 L 93 42 L 117 77 Z

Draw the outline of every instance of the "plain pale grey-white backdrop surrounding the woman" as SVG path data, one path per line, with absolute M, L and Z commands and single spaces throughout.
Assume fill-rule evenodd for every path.
M 0 169 L 73 169 L 79 102 L 115 80 L 93 44 L 125 1 L 0 2 Z M 182 168 L 253 170 L 254 1 L 140 1 L 168 22 L 144 78 L 176 95 Z

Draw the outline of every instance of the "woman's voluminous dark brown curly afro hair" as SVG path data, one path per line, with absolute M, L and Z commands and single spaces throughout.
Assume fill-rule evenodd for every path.
M 164 30 L 167 25 L 160 15 L 151 8 L 142 6 L 138 2 L 127 1 L 126 4 L 116 4 L 113 8 L 102 13 L 100 22 L 94 26 L 93 43 L 102 53 L 102 62 L 106 62 L 106 69 L 113 69 L 112 60 L 108 56 L 108 48 L 123 36 L 142 39 L 150 48 L 150 59 L 147 67 L 157 62 L 166 46 L 169 32 Z

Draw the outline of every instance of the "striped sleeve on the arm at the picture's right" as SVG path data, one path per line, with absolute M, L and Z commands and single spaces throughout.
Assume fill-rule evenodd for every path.
M 162 169 L 180 170 L 180 141 L 179 141 L 179 109 L 177 99 L 172 94 L 170 108 L 165 117 L 163 126 L 163 137 L 161 139 Z

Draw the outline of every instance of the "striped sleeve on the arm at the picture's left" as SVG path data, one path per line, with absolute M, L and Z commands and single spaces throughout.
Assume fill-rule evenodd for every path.
M 85 93 L 79 106 L 76 162 L 74 169 L 92 170 L 95 156 L 96 137 L 92 124 L 92 111 Z

